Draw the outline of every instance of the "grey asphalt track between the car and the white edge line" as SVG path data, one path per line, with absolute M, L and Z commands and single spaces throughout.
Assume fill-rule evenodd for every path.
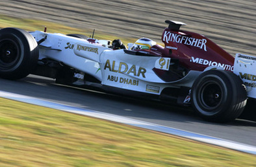
M 224 140 L 256 146 L 256 122 L 235 120 L 227 124 L 205 122 L 190 109 L 166 106 L 149 100 L 107 95 L 55 84 L 54 80 L 29 75 L 17 81 L 0 78 L 0 91 L 32 96 L 83 109 L 102 111 Z

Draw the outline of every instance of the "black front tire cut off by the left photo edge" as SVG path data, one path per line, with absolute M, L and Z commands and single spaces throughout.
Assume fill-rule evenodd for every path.
M 0 30 L 0 77 L 8 80 L 24 78 L 36 67 L 38 45 L 29 32 L 19 28 Z

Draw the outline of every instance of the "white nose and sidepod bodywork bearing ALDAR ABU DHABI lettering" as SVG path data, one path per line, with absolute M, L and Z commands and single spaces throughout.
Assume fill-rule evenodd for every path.
M 39 60 L 47 58 L 75 67 L 81 71 L 81 74 L 75 73 L 74 77 L 84 79 L 86 77 L 84 73 L 90 74 L 102 85 L 160 95 L 162 89 L 170 85 L 192 87 L 193 78 L 201 73 L 190 71 L 181 80 L 164 82 L 153 72 L 153 69 L 168 71 L 171 58 L 127 54 L 123 49 L 112 50 L 108 45 L 90 43 L 86 39 L 64 34 L 48 34 L 40 31 L 31 34 L 36 41 L 47 36 L 47 40 L 40 44 Z

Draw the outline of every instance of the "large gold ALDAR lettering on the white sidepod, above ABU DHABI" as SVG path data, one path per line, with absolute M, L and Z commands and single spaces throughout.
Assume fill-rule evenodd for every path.
M 105 69 L 109 69 L 109 71 L 112 72 L 118 72 L 118 73 L 125 73 L 125 74 L 133 74 L 134 76 L 142 76 L 143 78 L 146 78 L 146 69 L 143 67 L 136 68 L 136 65 L 132 65 L 129 67 L 127 63 L 120 62 L 117 68 L 115 69 L 116 66 L 116 61 L 112 61 L 112 65 L 109 60 L 106 61 L 105 63 Z

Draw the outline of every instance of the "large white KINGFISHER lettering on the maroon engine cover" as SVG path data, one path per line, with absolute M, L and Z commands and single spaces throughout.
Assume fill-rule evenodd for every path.
M 199 49 L 207 51 L 205 45 L 207 43 L 207 39 L 192 38 L 188 36 L 182 36 L 180 34 L 171 33 L 169 31 L 165 31 L 162 41 L 166 41 L 166 43 L 183 43 L 185 45 L 191 45 L 193 47 L 198 47 Z

